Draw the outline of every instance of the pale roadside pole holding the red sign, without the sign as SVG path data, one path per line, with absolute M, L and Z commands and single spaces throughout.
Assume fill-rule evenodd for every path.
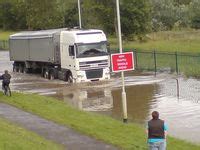
M 121 37 L 121 22 L 120 22 L 120 9 L 119 9 L 119 0 L 116 0 L 117 7 L 117 24 L 118 24 L 118 39 L 119 39 L 119 50 L 120 53 L 123 53 L 122 50 L 122 37 Z M 124 71 L 121 72 L 122 78 L 122 108 L 123 108 L 123 122 L 128 122 L 127 116 L 127 102 L 126 102 L 126 91 L 125 91 L 125 83 L 124 83 Z

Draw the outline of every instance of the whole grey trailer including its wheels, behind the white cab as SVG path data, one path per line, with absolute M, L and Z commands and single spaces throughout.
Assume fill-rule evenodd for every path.
M 28 73 L 39 69 L 46 78 L 50 78 L 50 74 L 55 76 L 54 68 L 60 68 L 60 33 L 65 30 L 26 31 L 11 35 L 13 71 Z

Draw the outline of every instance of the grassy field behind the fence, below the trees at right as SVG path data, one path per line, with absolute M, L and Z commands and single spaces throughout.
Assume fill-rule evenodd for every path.
M 109 38 L 112 49 L 118 46 L 116 38 Z M 200 53 L 200 30 L 165 31 L 150 33 L 145 42 L 123 41 L 125 49 L 157 50 L 167 52 Z

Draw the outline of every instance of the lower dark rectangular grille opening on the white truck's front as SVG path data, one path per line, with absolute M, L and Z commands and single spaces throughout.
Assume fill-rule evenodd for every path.
M 87 79 L 102 78 L 103 69 L 86 70 Z

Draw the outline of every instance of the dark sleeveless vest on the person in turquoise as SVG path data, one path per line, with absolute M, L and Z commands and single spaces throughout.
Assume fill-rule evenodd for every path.
M 164 121 L 160 119 L 152 119 L 148 122 L 148 138 L 165 138 Z

